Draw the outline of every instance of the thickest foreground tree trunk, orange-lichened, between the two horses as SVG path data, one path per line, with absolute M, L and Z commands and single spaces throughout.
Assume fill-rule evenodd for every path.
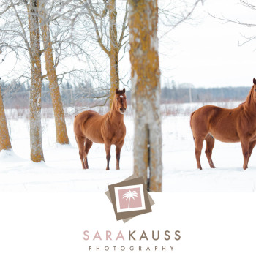
M 134 173 L 149 192 L 162 191 L 162 133 L 157 0 L 129 1 L 132 105 L 135 111 Z

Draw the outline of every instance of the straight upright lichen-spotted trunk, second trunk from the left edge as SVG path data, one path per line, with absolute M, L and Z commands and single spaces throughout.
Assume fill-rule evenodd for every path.
M 40 53 L 40 34 L 38 22 L 38 0 L 31 0 L 29 10 L 30 34 L 30 61 L 31 61 L 31 87 L 29 96 L 30 108 L 30 150 L 31 161 L 44 161 L 42 152 L 42 127 L 41 127 L 41 90 L 42 71 Z

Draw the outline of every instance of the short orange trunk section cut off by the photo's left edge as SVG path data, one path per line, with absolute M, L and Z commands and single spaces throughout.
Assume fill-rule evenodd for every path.
M 10 142 L 8 127 L 7 127 L 7 119 L 4 113 L 4 103 L 1 97 L 1 89 L 0 89 L 0 151 L 1 150 L 12 149 L 12 145 Z

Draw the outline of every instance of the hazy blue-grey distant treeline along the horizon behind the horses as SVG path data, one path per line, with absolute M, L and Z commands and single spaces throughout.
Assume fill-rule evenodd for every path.
M 0 83 L 5 108 L 29 108 L 29 83 Z M 222 102 L 246 99 L 249 87 L 195 88 L 190 84 L 165 86 L 162 88 L 162 103 L 185 102 Z M 61 97 L 64 107 L 105 105 L 108 101 L 108 89 L 94 89 L 90 81 L 72 85 L 61 83 Z M 131 91 L 127 90 L 130 102 Z M 50 90 L 47 83 L 42 84 L 42 108 L 50 108 Z

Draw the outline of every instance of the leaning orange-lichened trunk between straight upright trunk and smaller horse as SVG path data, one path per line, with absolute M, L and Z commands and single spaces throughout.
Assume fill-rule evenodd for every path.
M 49 22 L 46 18 L 45 10 L 42 10 L 42 18 L 40 23 L 42 30 L 42 41 L 45 48 L 45 69 L 48 75 L 50 96 L 53 102 L 53 112 L 56 125 L 56 142 L 60 144 L 69 144 L 61 94 L 59 92 L 58 78 L 53 61 L 53 48 L 50 40 Z

